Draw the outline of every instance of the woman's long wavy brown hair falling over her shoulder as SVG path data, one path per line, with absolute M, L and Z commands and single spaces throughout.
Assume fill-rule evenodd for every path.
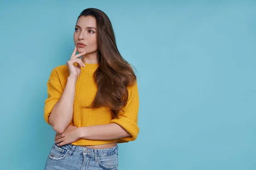
M 99 67 L 93 73 L 98 91 L 90 106 L 84 107 L 109 107 L 113 117 L 118 117 L 119 111 L 123 111 L 122 107 L 127 104 L 127 87 L 134 85 L 137 77 L 131 64 L 117 49 L 113 27 L 108 16 L 97 8 L 84 9 L 79 17 L 81 16 L 96 18 L 99 56 Z

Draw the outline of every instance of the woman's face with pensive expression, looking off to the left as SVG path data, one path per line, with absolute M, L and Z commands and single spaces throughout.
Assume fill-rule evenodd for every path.
M 79 17 L 74 32 L 74 42 L 79 53 L 86 51 L 87 55 L 98 50 L 96 29 L 96 19 L 94 17 Z M 79 42 L 84 43 L 84 45 L 77 44 Z

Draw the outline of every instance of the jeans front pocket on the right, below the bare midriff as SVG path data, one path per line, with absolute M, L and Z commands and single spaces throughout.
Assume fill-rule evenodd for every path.
M 101 167 L 108 170 L 118 167 L 117 154 L 98 156 L 98 162 Z

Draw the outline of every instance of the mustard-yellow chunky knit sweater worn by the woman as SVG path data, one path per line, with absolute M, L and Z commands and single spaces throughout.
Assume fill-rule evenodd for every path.
M 77 65 L 77 63 L 75 63 Z M 113 118 L 110 108 L 82 108 L 82 105 L 88 106 L 96 96 L 97 86 L 93 81 L 93 73 L 99 64 L 87 64 L 81 67 L 81 74 L 76 82 L 76 92 L 73 107 L 73 118 L 70 125 L 76 127 L 85 127 L 92 125 L 105 125 L 108 123 L 116 123 L 127 130 L 131 136 L 113 140 L 88 140 L 79 139 L 71 144 L 73 145 L 99 145 L 111 142 L 129 142 L 137 139 L 139 133 L 138 111 L 139 111 L 139 95 L 137 82 L 134 85 L 128 86 L 128 103 L 122 108 L 123 112 L 119 112 L 119 118 Z M 49 124 L 48 117 L 53 106 L 61 97 L 67 83 L 69 71 L 67 65 L 59 65 L 51 71 L 47 82 L 48 98 L 45 100 L 44 119 Z M 50 124 L 49 124 L 50 125 Z

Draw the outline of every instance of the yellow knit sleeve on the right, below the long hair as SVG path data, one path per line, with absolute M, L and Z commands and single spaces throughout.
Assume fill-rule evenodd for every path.
M 128 101 L 127 104 L 122 108 L 124 112 L 119 111 L 119 118 L 114 118 L 111 123 L 116 123 L 123 127 L 131 136 L 121 138 L 125 142 L 134 141 L 137 139 L 140 131 L 138 127 L 138 111 L 139 111 L 139 94 L 137 87 L 137 80 L 134 85 L 127 87 L 128 90 Z

